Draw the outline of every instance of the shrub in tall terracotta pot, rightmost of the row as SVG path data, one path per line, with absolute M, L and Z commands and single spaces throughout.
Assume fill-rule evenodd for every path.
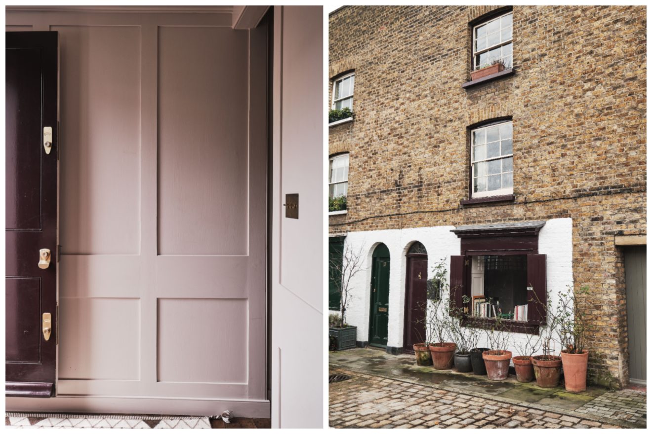
M 557 305 L 558 332 L 561 342 L 561 365 L 564 385 L 569 392 L 586 390 L 586 370 L 589 350 L 585 349 L 586 336 L 592 327 L 584 310 L 578 308 L 577 295 L 585 296 L 589 288 L 584 286 L 576 293 L 571 286 L 559 294 Z

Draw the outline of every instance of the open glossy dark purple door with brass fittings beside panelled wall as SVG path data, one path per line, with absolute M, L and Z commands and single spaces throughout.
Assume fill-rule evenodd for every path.
M 56 32 L 6 34 L 5 390 L 49 397 L 57 348 L 58 41 Z

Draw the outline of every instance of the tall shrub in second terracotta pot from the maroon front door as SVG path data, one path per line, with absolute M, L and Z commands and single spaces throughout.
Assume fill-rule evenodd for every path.
M 449 299 L 450 287 L 445 278 L 445 262 L 446 258 L 443 258 L 434 267 L 432 282 L 434 286 L 439 288 L 439 297 L 435 300 L 430 300 L 426 310 L 426 316 L 428 318 L 426 330 L 430 329 L 432 340 L 436 341 L 431 343 L 428 348 L 432 356 L 432 366 L 437 370 L 452 368 L 456 347 L 453 342 L 446 342 L 449 338 L 451 322 L 451 317 L 449 316 L 451 301 Z

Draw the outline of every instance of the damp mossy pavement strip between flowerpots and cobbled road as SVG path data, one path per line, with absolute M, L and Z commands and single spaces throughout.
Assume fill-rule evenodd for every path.
M 369 373 L 428 385 L 451 392 L 488 398 L 542 411 L 595 420 L 625 427 L 645 427 L 645 392 L 588 387 L 585 392 L 567 392 L 563 386 L 541 388 L 536 381 L 519 383 L 515 375 L 505 381 L 490 381 L 486 376 L 437 371 L 432 366 L 417 366 L 413 355 L 389 355 L 369 349 L 349 349 L 329 353 L 331 368 Z

